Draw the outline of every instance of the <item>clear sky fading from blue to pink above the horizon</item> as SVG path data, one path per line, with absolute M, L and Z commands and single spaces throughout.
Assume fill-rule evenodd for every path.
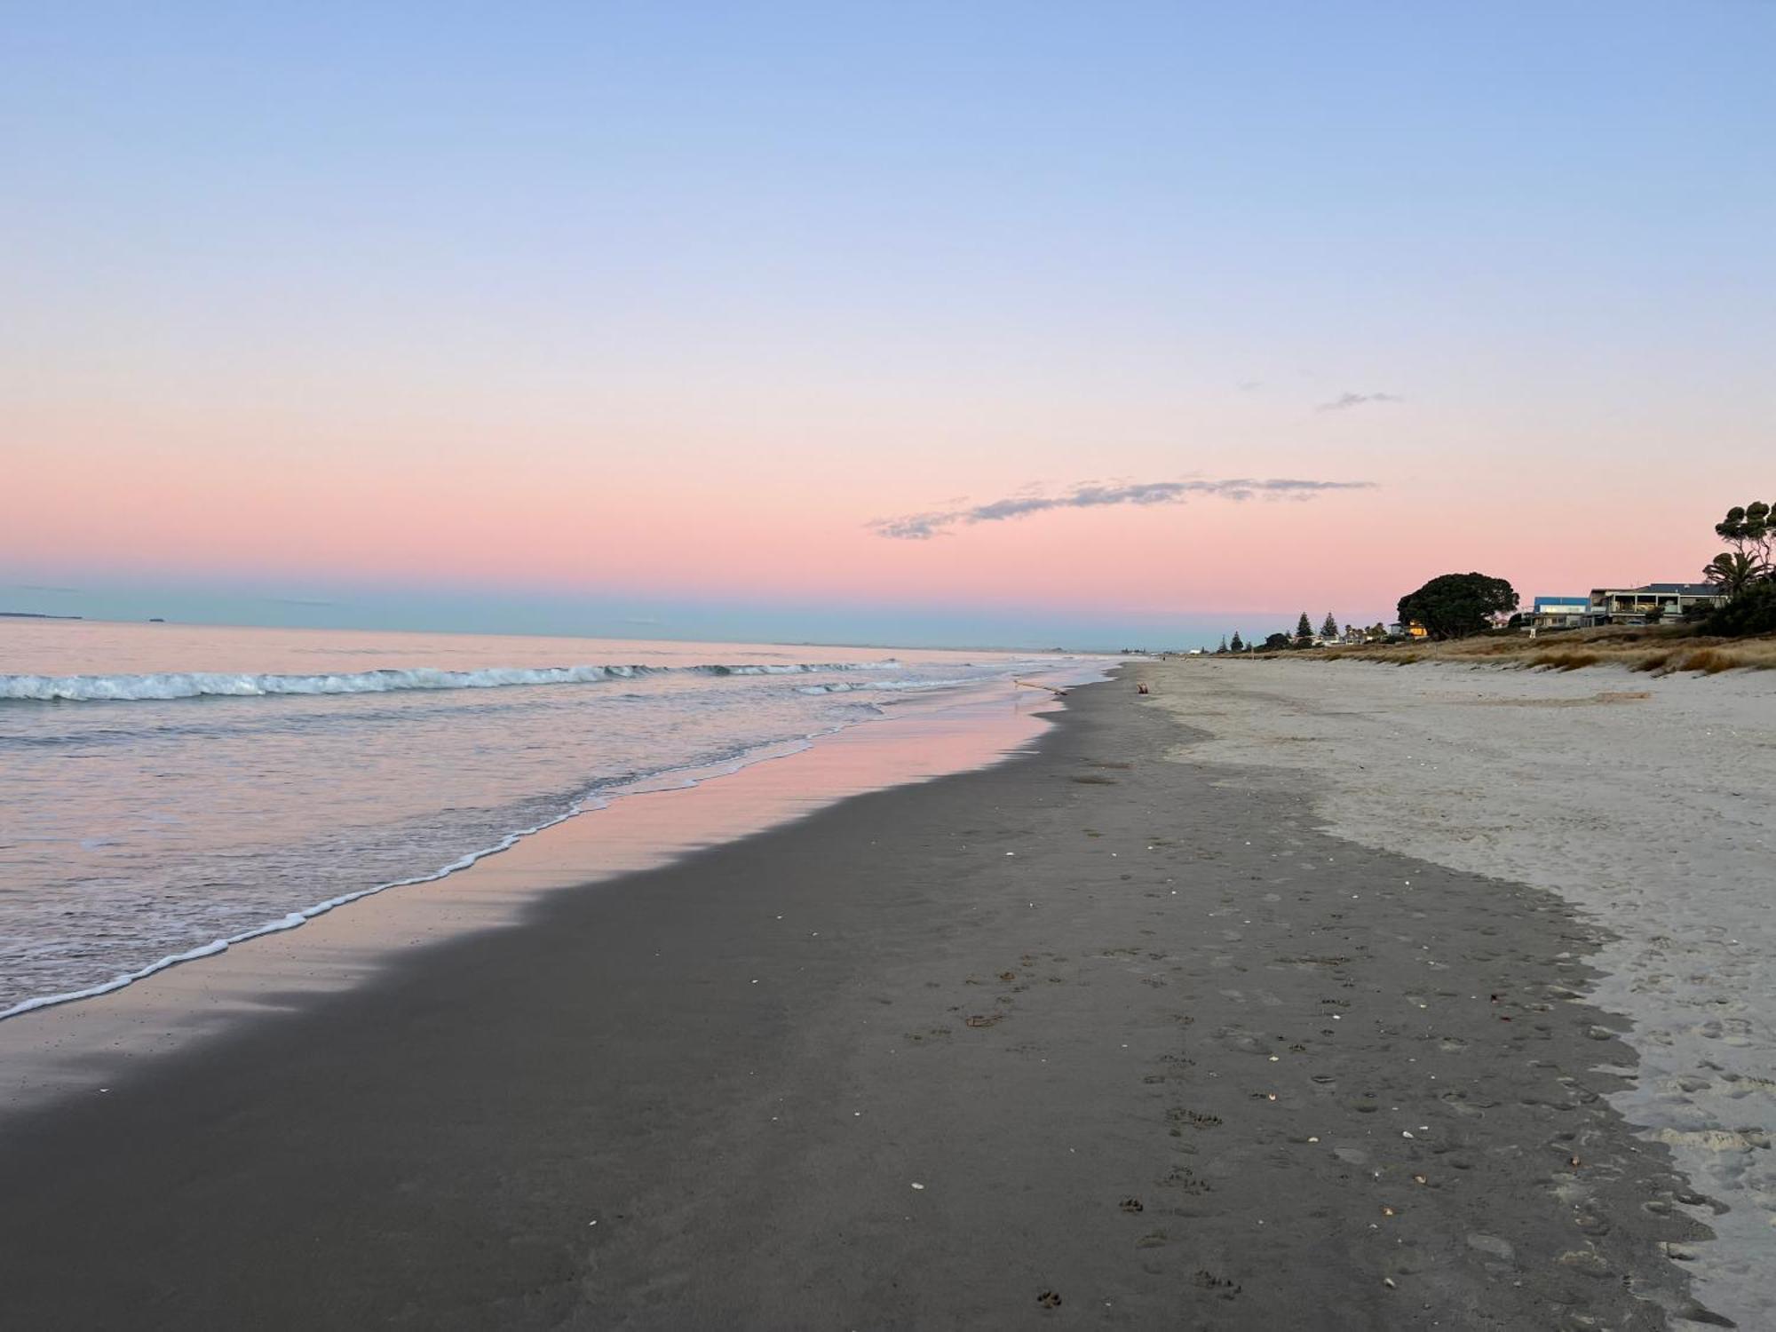
M 1767 0 L 0 34 L 0 609 L 1192 645 L 1776 480 Z

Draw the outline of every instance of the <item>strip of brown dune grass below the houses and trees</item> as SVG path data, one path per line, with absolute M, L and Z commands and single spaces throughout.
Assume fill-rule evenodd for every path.
M 1382 661 L 1412 666 L 1421 661 L 1517 670 L 1577 671 L 1586 666 L 1625 666 L 1632 671 L 1673 675 L 1700 671 L 1776 670 L 1776 636 L 1710 638 L 1689 625 L 1636 629 L 1568 629 L 1536 638 L 1522 632 L 1478 634 L 1451 643 L 1353 643 L 1339 648 L 1257 652 L 1257 657 L 1316 661 Z

